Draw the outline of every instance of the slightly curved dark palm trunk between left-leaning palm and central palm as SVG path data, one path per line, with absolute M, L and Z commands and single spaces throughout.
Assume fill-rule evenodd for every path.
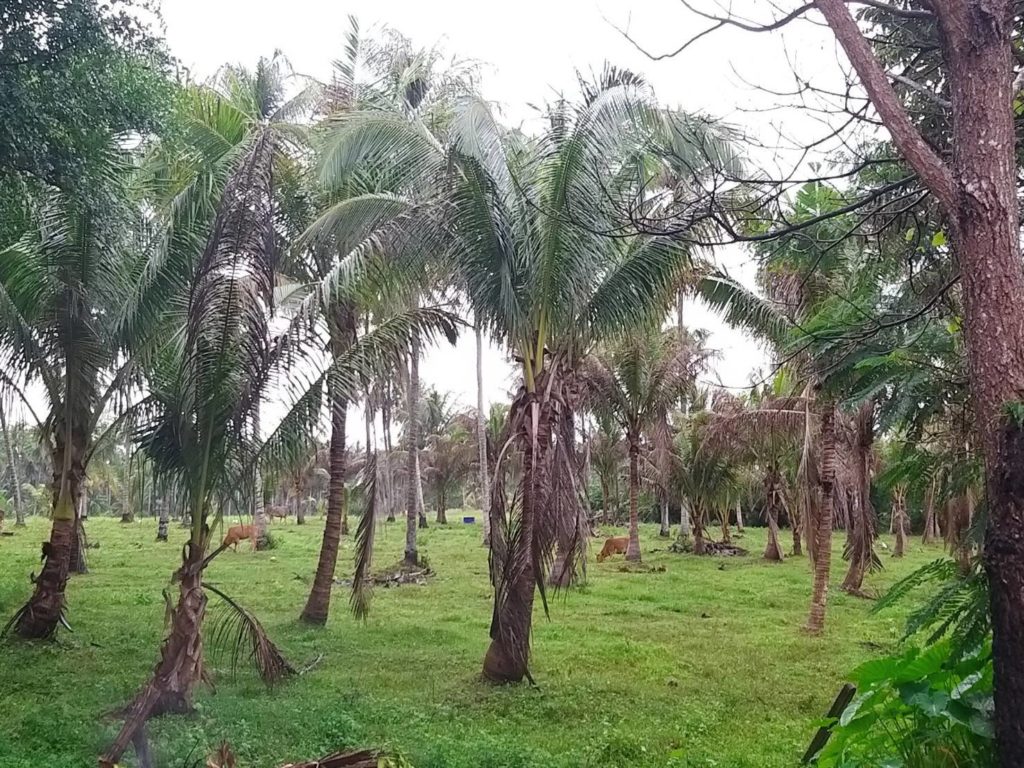
M 334 396 L 331 400 L 331 446 L 328 452 L 331 478 L 328 484 L 324 541 L 321 544 L 313 586 L 299 616 L 302 622 L 317 626 L 327 624 L 331 609 L 331 588 L 334 586 L 334 569 L 338 563 L 338 547 L 341 543 L 341 519 L 345 515 L 345 419 L 348 402 Z

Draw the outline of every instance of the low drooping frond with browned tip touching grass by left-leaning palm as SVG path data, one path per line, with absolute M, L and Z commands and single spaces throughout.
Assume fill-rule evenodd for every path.
M 224 608 L 207 620 L 211 625 L 208 644 L 214 654 L 228 655 L 232 674 L 243 660 L 255 664 L 260 679 L 267 685 L 279 683 L 295 674 L 295 670 L 281 654 L 256 616 L 212 584 L 204 583 L 203 587 L 223 601 Z

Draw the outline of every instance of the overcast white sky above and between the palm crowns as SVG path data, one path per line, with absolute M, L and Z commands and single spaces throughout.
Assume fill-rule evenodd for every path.
M 752 15 L 768 12 L 766 3 L 755 0 L 738 6 Z M 332 59 L 340 56 L 348 14 L 359 19 L 364 34 L 387 25 L 418 45 L 440 43 L 447 54 L 483 62 L 483 94 L 502 105 L 510 125 L 530 119 L 529 104 L 550 100 L 562 90 L 574 92 L 577 70 L 596 72 L 608 60 L 642 73 L 664 103 L 707 112 L 765 142 L 773 140 L 770 121 L 781 122 L 786 132 L 816 137 L 820 128 L 806 116 L 759 112 L 775 99 L 744 81 L 792 90 L 791 61 L 804 76 L 838 72 L 834 41 L 806 22 L 784 38 L 719 31 L 682 55 L 656 62 L 613 27 L 628 27 L 651 52 L 672 50 L 706 26 L 675 0 L 163 0 L 163 13 L 171 51 L 198 78 L 212 75 L 225 62 L 252 67 L 275 49 L 288 56 L 296 72 L 325 78 Z M 771 157 L 759 156 L 758 162 L 771 162 Z M 751 265 L 741 249 L 718 256 L 734 275 L 750 280 Z M 756 345 L 705 307 L 687 306 L 686 323 L 710 330 L 710 344 L 721 352 L 711 381 L 745 386 L 750 373 L 765 366 Z M 424 383 L 475 406 L 474 355 L 471 333 L 454 349 L 428 351 L 421 367 Z M 486 352 L 484 379 L 488 401 L 506 397 L 512 370 L 498 349 Z

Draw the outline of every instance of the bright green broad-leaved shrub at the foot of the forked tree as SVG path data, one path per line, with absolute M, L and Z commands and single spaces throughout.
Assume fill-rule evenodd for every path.
M 951 639 L 868 662 L 851 677 L 857 695 L 818 757 L 819 768 L 954 768 L 994 765 L 992 658 Z

